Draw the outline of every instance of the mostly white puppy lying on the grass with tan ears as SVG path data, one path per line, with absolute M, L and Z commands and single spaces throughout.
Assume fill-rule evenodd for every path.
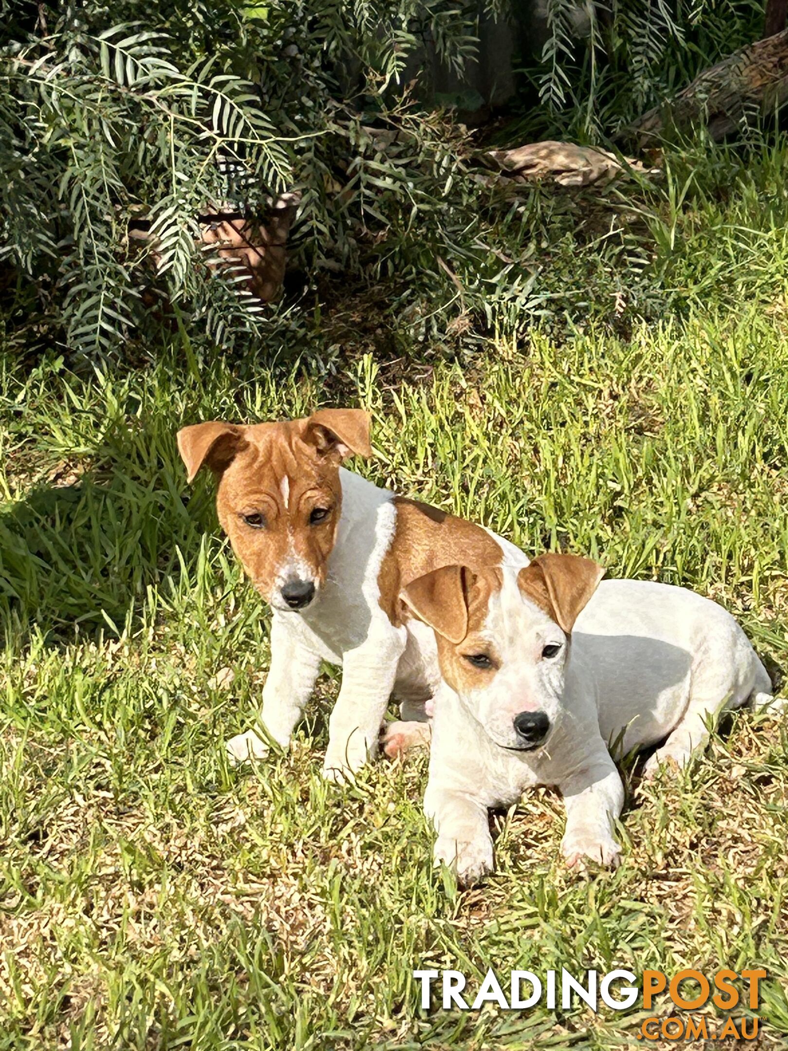
M 493 868 L 488 808 L 557 786 L 569 866 L 618 864 L 624 789 L 616 755 L 667 740 L 647 763 L 685 765 L 723 708 L 772 701 L 771 682 L 735 620 L 682 588 L 599 583 L 572 555 L 524 569 L 443 566 L 402 598 L 436 635 L 424 810 L 435 858 L 461 883 Z

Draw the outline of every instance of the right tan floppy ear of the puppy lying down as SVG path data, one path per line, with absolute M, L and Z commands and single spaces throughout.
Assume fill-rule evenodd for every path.
M 523 595 L 569 635 L 604 574 L 604 566 L 589 558 L 546 554 L 520 570 L 517 582 Z

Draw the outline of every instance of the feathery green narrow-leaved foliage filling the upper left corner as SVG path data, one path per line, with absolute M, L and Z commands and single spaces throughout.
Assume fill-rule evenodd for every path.
M 311 262 L 329 246 L 351 254 L 341 213 L 373 217 L 375 195 L 361 188 L 374 163 L 353 156 L 354 104 L 377 105 L 426 35 L 459 66 L 473 27 L 449 0 L 6 0 L 2 257 L 46 287 L 65 344 L 81 353 L 116 350 L 165 302 L 216 339 L 248 336 L 261 312 L 228 296 L 226 280 L 207 280 L 195 217 L 228 202 L 264 217 L 296 188 Z M 337 168 L 350 177 L 339 208 Z M 140 219 L 150 224 L 155 281 L 146 249 L 128 239 Z

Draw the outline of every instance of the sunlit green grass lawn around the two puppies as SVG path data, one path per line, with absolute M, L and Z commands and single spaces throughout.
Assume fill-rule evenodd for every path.
M 423 1014 L 411 971 L 430 965 L 762 965 L 764 1046 L 786 1045 L 784 725 L 737 715 L 676 782 L 627 769 L 618 872 L 564 871 L 544 791 L 496 819 L 497 874 L 458 892 L 431 867 L 423 757 L 320 780 L 336 673 L 290 754 L 228 767 L 268 612 L 174 444 L 200 418 L 367 406 L 376 456 L 355 467 L 376 482 L 527 552 L 692 586 L 785 667 L 788 252 L 763 207 L 779 174 L 766 154 L 750 174 L 713 163 L 724 193 L 707 172 L 648 208 L 652 288 L 679 290 L 680 315 L 619 335 L 486 339 L 405 376 L 352 354 L 328 377 L 256 353 L 189 365 L 177 345 L 91 376 L 3 358 L 0 1051 L 637 1046 L 637 1012 Z

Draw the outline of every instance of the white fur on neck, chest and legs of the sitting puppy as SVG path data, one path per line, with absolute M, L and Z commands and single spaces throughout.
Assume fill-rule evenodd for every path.
M 268 738 L 283 747 L 289 744 L 320 660 L 343 666 L 341 688 L 329 720 L 327 778 L 340 780 L 375 755 L 392 693 L 402 701 L 403 718 L 420 721 L 405 724 L 409 739 L 428 736 L 422 729 L 424 704 L 440 683 L 434 634 L 418 621 L 396 627 L 379 603 L 378 576 L 396 529 L 394 494 L 344 468 L 339 478 L 341 515 L 326 583 L 304 610 L 274 607 L 263 710 L 255 729 L 228 742 L 233 761 L 264 757 Z M 528 564 L 513 544 L 496 539 L 507 563 L 519 559 L 519 568 Z

